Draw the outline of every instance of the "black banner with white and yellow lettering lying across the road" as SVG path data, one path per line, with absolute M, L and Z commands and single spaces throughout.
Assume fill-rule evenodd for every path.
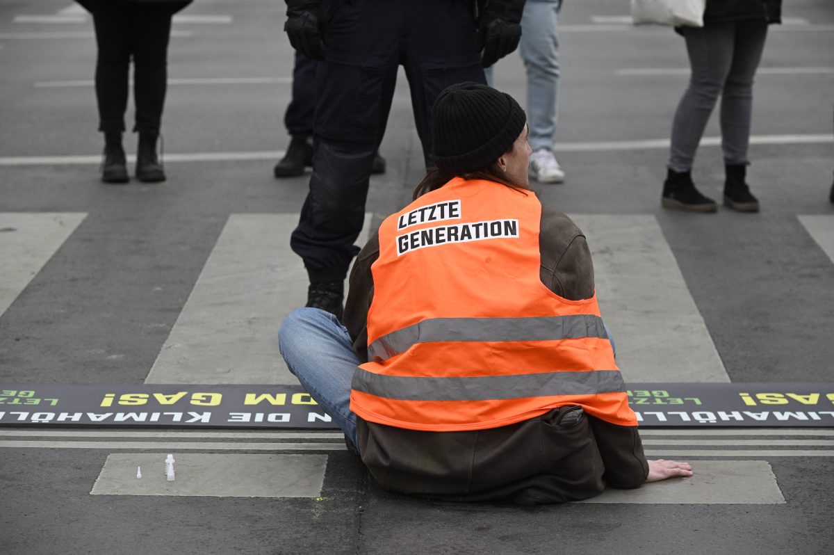
M 642 427 L 834 427 L 834 383 L 629 384 Z M 3 385 L 0 426 L 337 426 L 301 386 Z

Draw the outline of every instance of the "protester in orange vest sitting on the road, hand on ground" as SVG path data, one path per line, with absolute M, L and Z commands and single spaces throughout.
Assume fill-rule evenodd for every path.
M 289 370 L 389 491 L 540 504 L 691 476 L 646 461 L 585 237 L 528 189 L 519 104 L 460 83 L 432 120 L 437 167 L 359 253 L 346 327 L 284 320 Z

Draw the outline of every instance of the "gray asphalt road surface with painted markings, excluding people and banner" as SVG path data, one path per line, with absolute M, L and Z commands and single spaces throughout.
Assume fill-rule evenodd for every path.
M 98 179 L 89 18 L 68 0 L 0 3 L 0 382 L 294 383 L 275 335 L 304 304 L 288 243 L 309 174 L 272 176 L 288 143 L 283 5 L 198 0 L 181 13 L 168 181 L 114 186 Z M 555 154 L 567 179 L 534 184 L 585 230 L 626 380 L 830 383 L 834 5 L 786 2 L 767 39 L 748 172 L 759 214 L 661 209 L 686 52 L 628 15 L 622 0 L 565 3 Z M 517 53 L 495 78 L 524 103 Z M 719 142 L 714 114 L 694 169 L 713 197 Z M 366 230 L 423 171 L 402 73 L 381 152 Z M 2 426 L 0 552 L 831 552 L 834 428 L 644 440 L 696 475 L 529 508 L 384 492 L 333 431 Z

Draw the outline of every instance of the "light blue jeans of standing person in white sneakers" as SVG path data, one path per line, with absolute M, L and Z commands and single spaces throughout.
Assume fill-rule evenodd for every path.
M 552 149 L 559 115 L 559 23 L 561 0 L 527 0 L 521 15 L 521 59 L 527 69 L 527 124 L 530 148 Z M 486 68 L 487 83 L 494 81 Z

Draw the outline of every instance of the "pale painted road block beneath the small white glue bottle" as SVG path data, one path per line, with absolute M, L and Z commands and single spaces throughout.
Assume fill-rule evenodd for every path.
M 327 455 L 177 454 L 173 482 L 158 453 L 111 453 L 92 495 L 319 497 Z M 136 478 L 142 467 L 142 478 Z

